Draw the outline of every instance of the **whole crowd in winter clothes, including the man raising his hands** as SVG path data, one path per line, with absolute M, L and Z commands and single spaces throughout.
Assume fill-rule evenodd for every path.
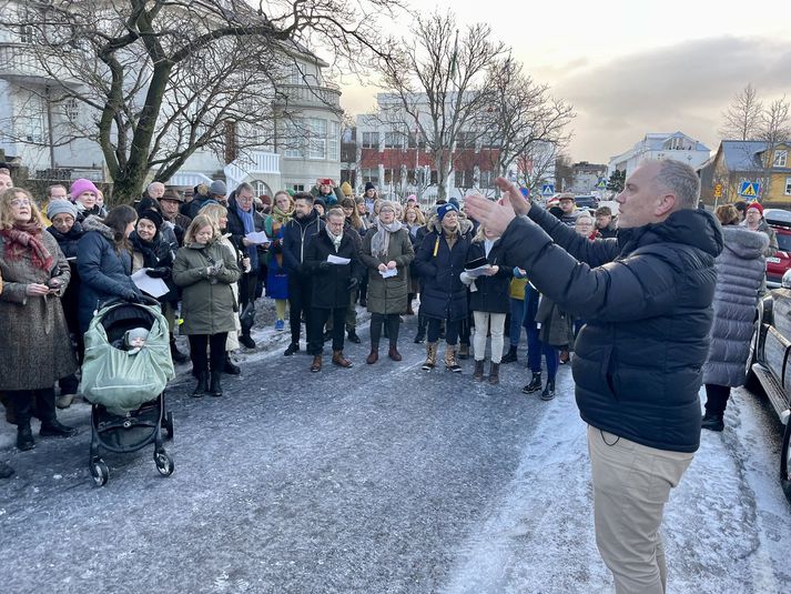
M 275 331 L 286 331 L 287 315 L 284 355 L 303 349 L 304 328 L 313 373 L 322 371 L 325 342 L 333 365 L 353 365 L 344 344 L 361 342 L 357 304 L 371 313 L 367 365 L 377 363 L 383 339 L 387 356 L 402 361 L 402 323 L 417 313 L 423 370 L 459 373 L 471 354 L 473 381 L 493 385 L 500 366 L 517 361 L 524 329 L 524 393 L 551 400 L 559 365 L 574 358 L 582 417 L 598 430 L 589 443 L 599 547 L 617 584 L 632 591 L 645 584 L 619 574 L 633 551 L 613 536 L 623 500 L 601 461 L 619 440 L 671 452 L 662 476 L 669 492 L 701 426 L 723 430 L 730 389 L 744 382 L 764 258 L 778 249 L 761 204 L 722 205 L 714 219 L 697 208 L 694 172 L 673 163 L 638 168 L 617 198 L 617 217 L 608 207 L 578 209 L 568 193 L 539 209 L 505 180 L 504 199 L 473 197 L 466 212 L 453 199 L 430 208 L 414 195 L 384 200 L 372 183 L 355 198 L 348 183 L 332 180 L 272 199 L 247 183 L 229 193 L 215 180 L 181 193 L 153 182 L 134 205 L 109 210 L 90 180 L 53 185 L 43 200 L 11 184 L 0 194 L 0 393 L 17 446 L 34 446 L 33 416 L 42 437 L 77 433 L 57 409 L 79 393 L 82 335 L 101 303 L 144 299 L 132 279 L 141 271 L 166 286 L 154 296 L 174 363 L 192 364 L 195 397 L 222 396 L 222 375 L 241 373 L 230 353 L 256 346 L 263 296 L 274 302 Z M 661 191 L 648 195 L 646 187 Z M 187 336 L 189 355 L 176 334 Z M 0 475 L 12 472 L 0 463 Z M 650 514 L 656 524 L 661 505 Z M 629 546 L 643 556 L 661 546 L 630 531 Z M 663 580 L 661 564 L 655 568 L 645 583 Z

